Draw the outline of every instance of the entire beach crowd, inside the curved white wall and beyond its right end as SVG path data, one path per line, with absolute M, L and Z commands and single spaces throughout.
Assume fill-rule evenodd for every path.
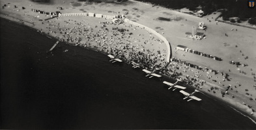
M 58 20 L 63 20 L 64 24 Z M 240 83 L 237 86 L 229 86 L 228 78 L 222 79 L 223 75 L 220 72 L 209 73 L 205 69 L 197 70 L 183 62 L 166 62 L 166 47 L 160 48 L 163 41 L 145 29 L 125 22 L 117 24 L 108 19 L 97 20 L 99 21 L 97 23 L 90 23 L 85 19 L 48 20 L 48 34 L 51 33 L 69 44 L 98 49 L 128 63 L 134 61 L 149 70 L 158 69 L 158 73 L 173 79 L 181 79 L 182 83 L 197 89 L 204 88 L 205 83 L 216 82 L 221 87 L 208 88 L 208 92 L 220 93 L 223 97 L 231 91 L 237 92 L 236 87 L 241 86 Z M 232 98 L 235 96 L 232 95 Z

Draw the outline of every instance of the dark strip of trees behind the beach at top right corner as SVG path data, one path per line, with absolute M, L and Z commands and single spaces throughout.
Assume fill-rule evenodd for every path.
M 256 9 L 248 7 L 246 0 L 137 0 L 149 2 L 154 5 L 165 6 L 167 8 L 180 9 L 188 8 L 196 11 L 199 8 L 205 12 L 205 15 L 212 12 L 222 11 L 224 20 L 229 20 L 231 17 L 238 17 L 244 21 L 249 19 L 249 22 L 255 24 Z M 224 9 L 224 10 L 223 10 Z

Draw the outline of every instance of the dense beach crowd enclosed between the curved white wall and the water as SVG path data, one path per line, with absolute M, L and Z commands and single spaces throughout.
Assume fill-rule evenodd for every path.
M 96 25 L 73 19 L 64 20 L 65 25 L 56 20 L 47 22 L 48 34 L 51 33 L 64 42 L 98 49 L 126 62 L 133 60 L 145 68 L 164 66 L 162 62 L 165 62 L 167 57 L 166 51 L 160 50 L 160 47 L 156 50 L 158 45 L 154 45 L 161 45 L 162 41 L 140 27 L 128 23 L 117 25 L 109 20 L 101 20 Z M 146 39 L 147 37 L 149 39 Z

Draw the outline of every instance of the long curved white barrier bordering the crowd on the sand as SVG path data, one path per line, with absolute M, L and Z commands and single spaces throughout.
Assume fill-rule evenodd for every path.
M 103 14 L 94 14 L 94 13 L 66 13 L 66 14 L 59 14 L 59 17 L 63 17 L 63 16 L 91 16 L 91 17 L 96 17 L 96 18 L 107 18 L 107 19 L 114 19 L 115 16 L 107 16 L 107 15 L 103 15 Z M 136 23 L 134 21 L 131 21 L 129 19 L 124 19 L 124 22 L 135 25 L 136 27 L 141 27 L 142 29 L 145 29 L 146 31 L 151 32 L 152 34 L 155 34 L 156 36 L 158 36 L 158 38 L 160 38 L 161 40 L 164 41 L 165 45 L 167 45 L 167 62 L 170 61 L 170 57 L 171 57 L 171 45 L 169 44 L 169 42 L 167 41 L 167 39 L 162 36 L 161 34 L 159 34 L 158 32 L 154 31 L 153 29 L 150 29 L 149 27 L 145 26 L 145 25 L 141 25 L 139 23 Z

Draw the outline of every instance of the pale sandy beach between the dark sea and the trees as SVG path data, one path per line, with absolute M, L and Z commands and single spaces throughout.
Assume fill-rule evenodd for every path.
M 15 8 L 16 5 L 16 8 Z M 74 0 L 51 1 L 50 4 L 32 1 L 2 0 L 1 17 L 33 27 L 68 44 L 80 45 L 111 53 L 126 62 L 140 62 L 141 66 L 160 68 L 160 73 L 170 78 L 182 79 L 184 83 L 198 88 L 204 94 L 226 101 L 246 116 L 256 120 L 256 48 L 255 29 L 216 23 L 217 14 L 203 18 L 191 16 L 148 3 L 127 1 L 125 3 L 88 3 Z M 25 9 L 22 9 L 24 7 Z M 57 9 L 62 7 L 63 10 Z M 201 70 L 186 66 L 184 62 L 167 63 L 168 45 L 158 36 L 129 23 L 113 23 L 111 19 L 90 16 L 63 16 L 39 14 L 32 9 L 47 12 L 124 15 L 131 21 L 154 29 L 171 45 L 171 57 L 201 66 Z M 166 18 L 162 20 L 160 18 Z M 45 20 L 48 19 L 48 20 Z M 207 27 L 205 39 L 192 40 L 186 32 L 203 21 Z M 227 35 L 225 35 L 227 34 Z M 222 60 L 202 57 L 177 50 L 177 45 L 207 53 Z M 240 62 L 239 65 L 230 61 Z M 216 73 L 210 72 L 216 70 Z M 227 73 L 223 77 L 222 73 Z

